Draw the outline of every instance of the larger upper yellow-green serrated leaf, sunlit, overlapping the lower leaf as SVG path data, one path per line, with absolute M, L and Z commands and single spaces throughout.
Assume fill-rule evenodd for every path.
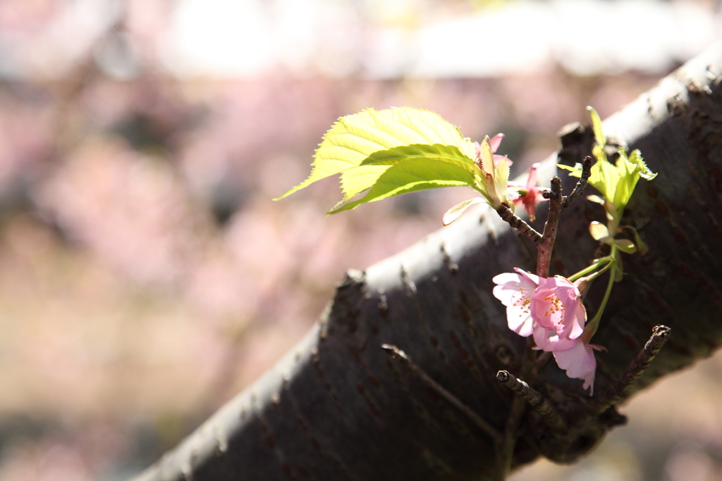
M 340 118 L 318 146 L 308 179 L 275 200 L 334 174 L 342 174 L 348 200 L 409 156 L 463 164 L 470 174 L 478 171 L 474 143 L 440 115 L 409 107 L 367 109 Z M 359 172 L 352 173 L 355 169 Z

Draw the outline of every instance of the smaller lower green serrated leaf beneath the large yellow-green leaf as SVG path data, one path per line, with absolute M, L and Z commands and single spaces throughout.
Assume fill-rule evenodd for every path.
M 475 188 L 476 180 L 472 172 L 457 164 L 438 162 L 436 159 L 406 159 L 388 167 L 363 198 L 341 207 L 336 206 L 329 214 L 349 211 L 362 203 L 417 190 L 452 186 Z

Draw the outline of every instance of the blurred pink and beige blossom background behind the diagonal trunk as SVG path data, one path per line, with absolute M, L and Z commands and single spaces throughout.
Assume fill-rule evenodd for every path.
M 303 180 L 365 107 L 506 134 L 513 174 L 722 35 L 720 1 L 1 0 L 0 480 L 120 481 L 440 227 L 431 190 L 325 217 Z M 722 480 L 722 356 L 515 480 Z

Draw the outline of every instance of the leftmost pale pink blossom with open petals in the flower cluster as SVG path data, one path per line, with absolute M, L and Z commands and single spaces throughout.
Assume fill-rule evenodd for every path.
M 531 314 L 531 295 L 534 289 L 539 286 L 538 275 L 530 274 L 520 268 L 514 268 L 517 274 L 503 273 L 492 279 L 498 284 L 492 293 L 506 307 L 506 317 L 509 329 L 521 336 L 529 336 L 536 327 L 536 322 Z

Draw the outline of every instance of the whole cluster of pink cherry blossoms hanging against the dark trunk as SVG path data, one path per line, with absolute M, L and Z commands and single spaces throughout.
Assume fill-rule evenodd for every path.
M 571 282 L 560 275 L 542 278 L 519 268 L 492 279 L 493 294 L 506 306 L 508 325 L 518 335 L 533 335 L 536 349 L 554 354 L 557 365 L 570 378 L 584 380 L 593 393 L 596 358 L 600 346 L 588 343 L 586 309 L 581 299 L 582 278 Z

